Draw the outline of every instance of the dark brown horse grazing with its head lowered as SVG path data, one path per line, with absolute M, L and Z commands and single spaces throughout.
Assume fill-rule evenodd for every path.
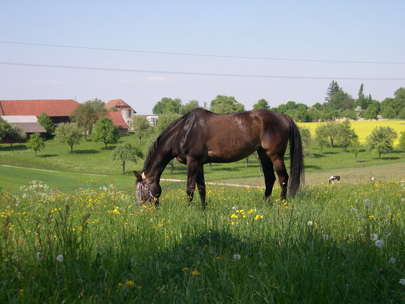
M 245 159 L 257 151 L 262 163 L 269 199 L 276 176 L 281 187 L 281 199 L 286 199 L 289 174 L 284 165 L 284 153 L 290 142 L 289 194 L 294 196 L 304 179 L 304 162 L 300 132 L 293 120 L 284 114 L 268 110 L 253 110 L 233 114 L 215 114 L 198 108 L 169 125 L 156 139 L 145 159 L 143 172 L 134 171 L 138 203 L 151 201 L 156 206 L 162 192 L 160 176 L 172 159 L 187 165 L 187 199 L 193 200 L 196 184 L 201 203 L 205 202 L 205 163 L 231 163 Z

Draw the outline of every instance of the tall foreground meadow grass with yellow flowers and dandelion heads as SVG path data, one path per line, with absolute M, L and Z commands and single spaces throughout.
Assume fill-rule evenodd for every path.
M 0 303 L 405 303 L 404 183 L 210 188 L 205 211 L 183 188 L 158 210 L 114 186 L 3 192 Z

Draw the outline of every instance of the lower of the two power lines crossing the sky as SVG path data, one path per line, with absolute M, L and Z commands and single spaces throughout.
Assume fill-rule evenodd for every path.
M 178 74 L 178 75 L 196 75 L 196 76 L 216 76 L 216 77 L 247 77 L 247 78 L 273 78 L 273 79 L 337 79 L 337 80 L 377 80 L 377 81 L 405 81 L 405 78 L 374 78 L 374 77 L 318 77 L 318 76 L 284 76 L 284 75 L 266 75 L 266 74 L 226 74 L 226 73 L 206 73 L 206 72 L 180 72 L 163 70 L 134 70 L 119 68 L 96 68 L 72 65 L 49 65 L 37 63 L 18 63 L 1 62 L 1 65 L 30 66 L 36 68 L 63 68 L 70 70 L 94 70 L 110 72 L 135 72 L 135 73 L 153 73 L 153 74 Z

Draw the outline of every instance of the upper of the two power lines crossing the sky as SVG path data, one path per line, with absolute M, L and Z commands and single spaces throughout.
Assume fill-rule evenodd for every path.
M 119 48 L 96 48 L 80 45 L 62 45 L 62 44 L 46 44 L 46 43 L 29 43 L 19 41 L 0 41 L 0 43 L 21 44 L 21 45 L 37 45 L 48 46 L 52 48 L 76 48 L 83 50 L 104 50 L 112 52 L 135 52 L 144 54 L 165 54 L 178 56 L 194 56 L 194 57 L 214 57 L 214 58 L 229 58 L 229 59 L 256 59 L 256 60 L 273 60 L 273 61 L 306 61 L 306 62 L 323 62 L 323 63 L 364 63 L 364 64 L 405 64 L 399 61 L 349 61 L 349 60 L 322 60 L 322 59 L 296 59 L 296 58 L 277 58 L 277 57 L 248 57 L 248 56 L 232 56 L 218 54 L 196 54 L 196 53 L 181 53 L 181 52 L 155 52 L 147 50 L 126 50 Z

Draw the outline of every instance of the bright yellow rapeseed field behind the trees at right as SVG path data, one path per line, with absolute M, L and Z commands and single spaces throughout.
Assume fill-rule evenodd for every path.
M 322 123 L 298 123 L 300 127 L 308 128 L 312 136 L 315 135 L 315 129 L 320 124 Z M 365 143 L 366 137 L 375 127 L 391 127 L 398 133 L 398 137 L 394 141 L 394 144 L 397 145 L 399 134 L 405 131 L 405 121 L 351 121 L 351 127 L 359 136 L 360 143 Z

